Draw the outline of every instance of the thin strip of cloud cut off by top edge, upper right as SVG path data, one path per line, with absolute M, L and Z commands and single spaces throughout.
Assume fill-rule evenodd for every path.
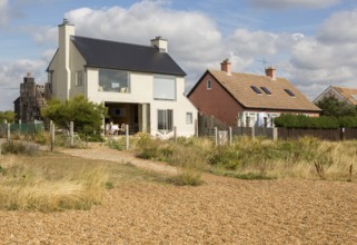
M 327 8 L 341 2 L 341 0 L 247 0 L 258 8 L 286 9 L 286 8 Z

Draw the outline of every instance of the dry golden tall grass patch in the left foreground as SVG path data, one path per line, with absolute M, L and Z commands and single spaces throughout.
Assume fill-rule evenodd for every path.
M 105 195 L 102 165 L 66 157 L 0 158 L 0 208 L 21 210 L 89 209 Z

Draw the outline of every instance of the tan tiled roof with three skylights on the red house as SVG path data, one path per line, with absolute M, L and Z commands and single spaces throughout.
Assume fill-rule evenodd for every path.
M 246 108 L 320 111 L 317 106 L 284 78 L 272 80 L 267 76 L 250 74 L 232 72 L 227 75 L 220 70 L 208 70 L 208 72 Z M 258 88 L 261 94 L 257 94 L 251 86 Z M 271 95 L 264 91 L 261 87 L 268 89 Z M 295 96 L 290 96 L 286 89 Z

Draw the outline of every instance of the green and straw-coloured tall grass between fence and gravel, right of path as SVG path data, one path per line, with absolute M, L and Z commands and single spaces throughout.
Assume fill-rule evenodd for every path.
M 140 157 L 167 161 L 181 169 L 209 168 L 214 174 L 245 179 L 356 179 L 357 141 L 324 141 L 314 137 L 272 141 L 237 137 L 231 146 L 216 147 L 207 138 L 162 141 L 141 136 L 135 149 Z

